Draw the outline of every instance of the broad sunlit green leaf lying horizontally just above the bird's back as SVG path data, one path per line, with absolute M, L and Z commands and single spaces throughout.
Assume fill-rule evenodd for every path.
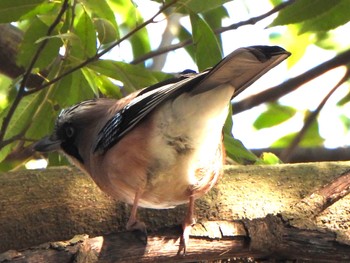
M 99 60 L 89 64 L 88 67 L 123 82 L 127 93 L 155 84 L 168 76 L 165 73 L 151 72 L 141 66 L 112 60 Z

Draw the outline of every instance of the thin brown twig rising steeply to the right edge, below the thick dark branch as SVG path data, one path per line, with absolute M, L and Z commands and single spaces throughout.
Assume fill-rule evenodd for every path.
M 293 141 L 290 143 L 290 145 L 284 149 L 284 151 L 281 153 L 281 160 L 283 160 L 284 162 L 288 162 L 291 154 L 293 153 L 293 151 L 295 150 L 295 148 L 298 146 L 298 144 L 300 143 L 301 139 L 304 137 L 305 133 L 307 132 L 307 130 L 310 128 L 311 124 L 315 121 L 317 115 L 320 113 L 320 111 L 322 110 L 322 108 L 324 107 L 324 105 L 326 104 L 326 102 L 328 101 L 328 99 L 332 96 L 332 94 L 345 82 L 349 79 L 350 77 L 350 70 L 349 68 L 347 69 L 344 77 L 333 87 L 333 89 L 331 89 L 329 91 L 329 93 L 326 95 L 326 97 L 324 97 L 324 99 L 321 101 L 321 103 L 318 105 L 318 107 L 316 108 L 316 110 L 314 110 L 313 112 L 311 112 L 311 114 L 309 114 L 309 116 L 307 116 L 305 122 L 304 122 L 304 126 L 303 128 L 298 132 L 298 134 L 294 137 Z

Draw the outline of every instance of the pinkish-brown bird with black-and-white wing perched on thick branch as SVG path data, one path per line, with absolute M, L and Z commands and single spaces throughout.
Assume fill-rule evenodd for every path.
M 130 204 L 126 229 L 146 237 L 138 207 L 188 203 L 179 245 L 185 254 L 194 201 L 222 175 L 231 99 L 290 55 L 279 46 L 242 47 L 203 72 L 186 70 L 119 100 L 80 102 L 61 111 L 52 134 L 33 148 L 62 152 L 102 191 Z

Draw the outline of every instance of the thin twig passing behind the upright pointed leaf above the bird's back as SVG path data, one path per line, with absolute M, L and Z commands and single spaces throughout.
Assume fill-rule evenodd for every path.
M 245 20 L 245 21 L 241 21 L 241 22 L 238 22 L 238 23 L 235 23 L 235 24 L 232 24 L 230 26 L 227 26 L 227 27 L 220 27 L 218 29 L 215 29 L 214 30 L 214 33 L 216 35 L 219 35 L 223 32 L 226 32 L 226 31 L 229 31 L 229 30 L 234 30 L 234 29 L 237 29 L 241 26 L 246 26 L 246 25 L 254 25 L 256 24 L 257 22 L 265 19 L 266 17 L 272 15 L 272 14 L 275 14 L 277 13 L 278 11 L 281 11 L 282 9 L 286 8 L 287 6 L 293 4 L 295 2 L 295 0 L 290 0 L 290 1 L 287 1 L 287 2 L 283 2 L 277 6 L 275 6 L 273 9 L 271 9 L 270 11 L 262 14 L 262 15 L 259 15 L 259 16 L 256 16 L 256 17 L 252 17 L 252 18 L 249 18 L 248 20 Z M 140 56 L 136 59 L 134 59 L 133 61 L 130 62 L 130 64 L 139 64 L 139 63 L 142 63 L 148 59 L 151 59 L 153 57 L 156 57 L 156 56 L 160 56 L 164 53 L 167 53 L 169 51 L 174 51 L 176 49 L 179 49 L 179 48 L 183 48 L 183 47 L 186 47 L 186 46 L 189 46 L 189 45 L 192 45 L 193 44 L 193 40 L 192 39 L 186 39 L 182 42 L 179 42 L 177 44 L 173 44 L 173 45 L 169 45 L 169 46 L 166 46 L 166 47 L 162 47 L 162 48 L 158 48 L 157 50 L 154 50 L 154 51 L 151 51 L 143 56 Z

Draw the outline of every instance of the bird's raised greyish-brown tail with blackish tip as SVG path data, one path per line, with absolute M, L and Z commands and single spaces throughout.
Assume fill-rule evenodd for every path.
M 290 52 L 278 46 L 239 48 L 210 69 L 191 93 L 194 95 L 230 84 L 235 90 L 232 97 L 235 97 L 290 55 Z

